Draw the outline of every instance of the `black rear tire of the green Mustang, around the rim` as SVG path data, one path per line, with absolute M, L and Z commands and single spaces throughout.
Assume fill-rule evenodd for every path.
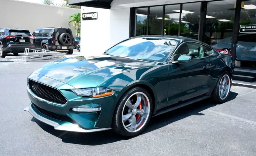
M 225 97 L 224 99 L 222 99 L 222 98 L 220 97 L 220 95 L 219 95 L 219 85 L 220 85 L 220 83 L 221 83 L 221 80 L 222 80 L 223 76 L 225 76 L 225 75 L 227 75 L 227 76 L 229 77 L 229 80 L 230 80 L 230 81 L 229 81 L 229 92 L 228 92 L 228 94 L 226 95 L 226 97 Z M 231 86 L 232 86 L 231 83 L 232 83 L 232 82 L 231 82 L 231 76 L 230 76 L 229 72 L 225 71 L 224 73 L 222 73 L 221 76 L 219 77 L 219 79 L 218 79 L 216 85 L 215 85 L 214 90 L 212 91 L 212 100 L 214 100 L 214 101 L 217 102 L 217 103 L 224 103 L 224 102 L 228 99 L 228 97 L 229 97 L 230 89 L 231 89 Z

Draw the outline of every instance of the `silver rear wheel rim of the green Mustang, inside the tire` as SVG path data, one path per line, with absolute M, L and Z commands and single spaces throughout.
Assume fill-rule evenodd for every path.
M 230 91 L 230 78 L 227 74 L 222 76 L 222 79 L 219 83 L 219 97 L 224 100 L 229 94 Z

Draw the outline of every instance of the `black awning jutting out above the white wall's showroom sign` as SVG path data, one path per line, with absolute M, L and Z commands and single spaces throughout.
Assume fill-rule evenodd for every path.
M 87 7 L 94 7 L 94 8 L 104 8 L 110 9 L 110 3 L 113 0 L 69 0 L 68 3 L 70 5 L 76 6 L 87 6 Z

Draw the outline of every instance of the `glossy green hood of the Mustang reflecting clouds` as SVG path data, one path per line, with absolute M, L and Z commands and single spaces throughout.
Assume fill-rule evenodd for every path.
M 118 73 L 156 64 L 110 55 L 89 58 L 77 56 L 53 61 L 33 73 L 67 83 L 75 88 L 88 88 L 96 87 Z

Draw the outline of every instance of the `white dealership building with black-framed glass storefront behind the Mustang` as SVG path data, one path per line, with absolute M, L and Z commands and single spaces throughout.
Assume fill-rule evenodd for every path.
M 231 48 L 237 80 L 256 81 L 256 0 L 69 0 L 81 7 L 81 50 L 102 54 L 129 37 L 184 36 Z

